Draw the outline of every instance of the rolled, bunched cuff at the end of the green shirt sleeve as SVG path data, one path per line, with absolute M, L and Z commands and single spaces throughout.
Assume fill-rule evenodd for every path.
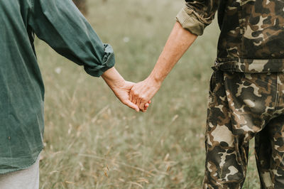
M 104 44 L 104 57 L 102 58 L 102 65 L 97 65 L 95 67 L 84 66 L 84 70 L 94 77 L 100 77 L 105 71 L 109 68 L 114 67 L 114 50 L 111 48 L 111 45 Z

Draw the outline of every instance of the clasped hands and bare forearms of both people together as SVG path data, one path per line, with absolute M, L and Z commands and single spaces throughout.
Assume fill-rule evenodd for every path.
M 174 65 L 178 63 L 178 60 L 180 60 L 196 38 L 197 36 L 195 34 L 182 28 L 180 23 L 176 22 L 167 43 L 165 43 L 163 52 L 160 54 L 151 75 L 147 77 L 146 80 L 138 82 L 136 85 L 131 82 L 125 82 L 124 78 L 119 75 L 115 68 L 104 72 L 102 77 L 121 102 L 136 109 L 136 111 L 140 109 L 146 112 L 149 103 L 151 103 L 150 99 L 158 92 L 165 77 L 170 70 L 172 70 Z M 124 85 L 121 85 L 122 87 L 120 88 L 114 87 L 113 89 L 113 83 L 119 80 L 123 80 Z

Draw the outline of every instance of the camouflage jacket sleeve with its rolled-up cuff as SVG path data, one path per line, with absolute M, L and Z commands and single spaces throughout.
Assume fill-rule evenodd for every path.
M 176 16 L 182 28 L 201 36 L 204 28 L 212 23 L 220 0 L 185 0 L 185 6 Z

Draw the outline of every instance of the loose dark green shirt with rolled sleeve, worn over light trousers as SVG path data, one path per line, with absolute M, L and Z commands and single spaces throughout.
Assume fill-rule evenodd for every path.
M 0 173 L 9 173 L 31 166 L 43 148 L 34 33 L 95 77 L 114 66 L 114 53 L 71 0 L 0 1 L 0 33 Z

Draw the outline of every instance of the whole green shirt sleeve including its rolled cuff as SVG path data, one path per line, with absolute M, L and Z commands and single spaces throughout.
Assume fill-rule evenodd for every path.
M 29 25 L 60 55 L 94 77 L 114 66 L 114 51 L 104 44 L 71 0 L 31 0 Z

